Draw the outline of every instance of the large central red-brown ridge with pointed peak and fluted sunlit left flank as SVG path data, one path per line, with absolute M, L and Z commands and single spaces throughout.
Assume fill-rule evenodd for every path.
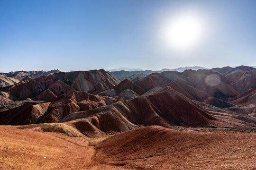
M 61 122 L 72 124 L 86 136 L 100 136 L 150 125 L 206 127 L 212 120 L 216 119 L 189 98 L 165 87 L 150 95 L 70 114 Z

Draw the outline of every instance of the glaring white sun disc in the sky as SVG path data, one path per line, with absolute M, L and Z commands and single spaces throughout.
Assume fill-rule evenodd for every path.
M 163 37 L 175 49 L 188 49 L 200 41 L 203 24 L 199 17 L 183 15 L 174 18 L 164 28 Z

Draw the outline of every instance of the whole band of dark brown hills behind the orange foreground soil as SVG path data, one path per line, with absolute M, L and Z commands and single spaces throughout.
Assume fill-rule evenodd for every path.
M 256 69 L 220 74 L 228 69 L 164 71 L 120 83 L 102 69 L 23 80 L 0 88 L 0 124 L 65 122 L 86 136 L 150 125 L 251 128 Z

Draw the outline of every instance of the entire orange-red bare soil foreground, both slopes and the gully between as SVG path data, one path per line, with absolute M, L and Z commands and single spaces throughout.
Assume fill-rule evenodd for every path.
M 68 137 L 0 126 L 0 170 L 255 170 L 256 134 L 142 127 Z

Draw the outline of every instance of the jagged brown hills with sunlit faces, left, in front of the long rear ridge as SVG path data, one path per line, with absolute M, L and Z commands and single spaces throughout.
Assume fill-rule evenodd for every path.
M 0 111 L 1 125 L 27 125 L 59 122 L 65 116 L 82 110 L 107 106 L 116 102 L 86 92 L 62 94 L 47 102 L 27 102 L 18 107 Z

